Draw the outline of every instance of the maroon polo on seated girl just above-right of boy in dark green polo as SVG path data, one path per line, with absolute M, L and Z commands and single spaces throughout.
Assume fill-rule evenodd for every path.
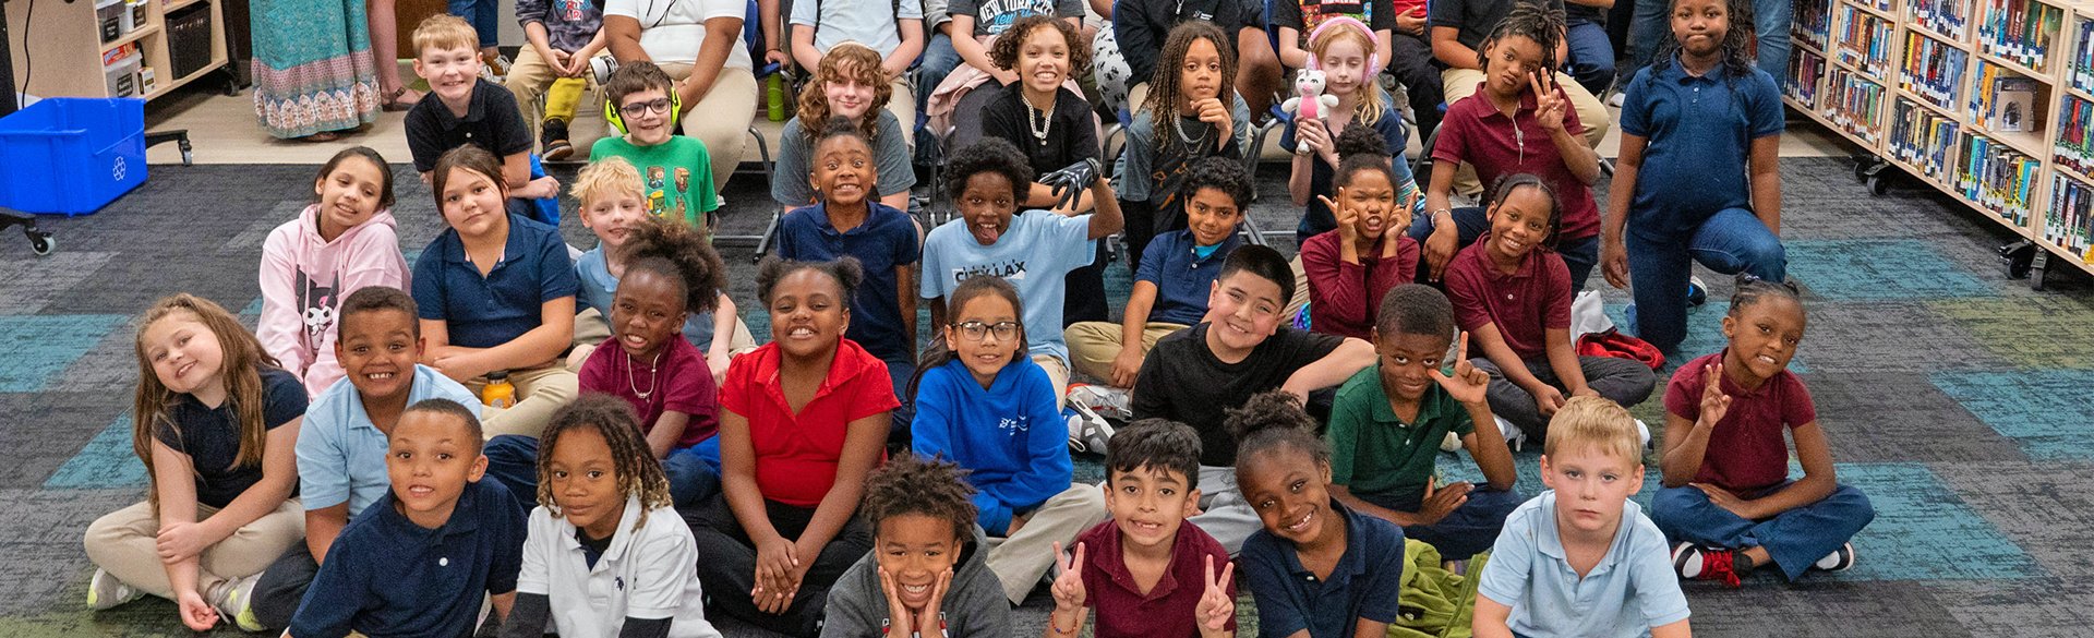
M 1497 272 L 1487 255 L 1491 232 L 1476 236 L 1447 261 L 1447 301 L 1462 331 L 1495 324 L 1520 360 L 1547 354 L 1547 328 L 1570 328 L 1570 268 L 1550 249 L 1527 251 L 1512 274 Z M 1476 345 L 1472 354 L 1480 354 Z

